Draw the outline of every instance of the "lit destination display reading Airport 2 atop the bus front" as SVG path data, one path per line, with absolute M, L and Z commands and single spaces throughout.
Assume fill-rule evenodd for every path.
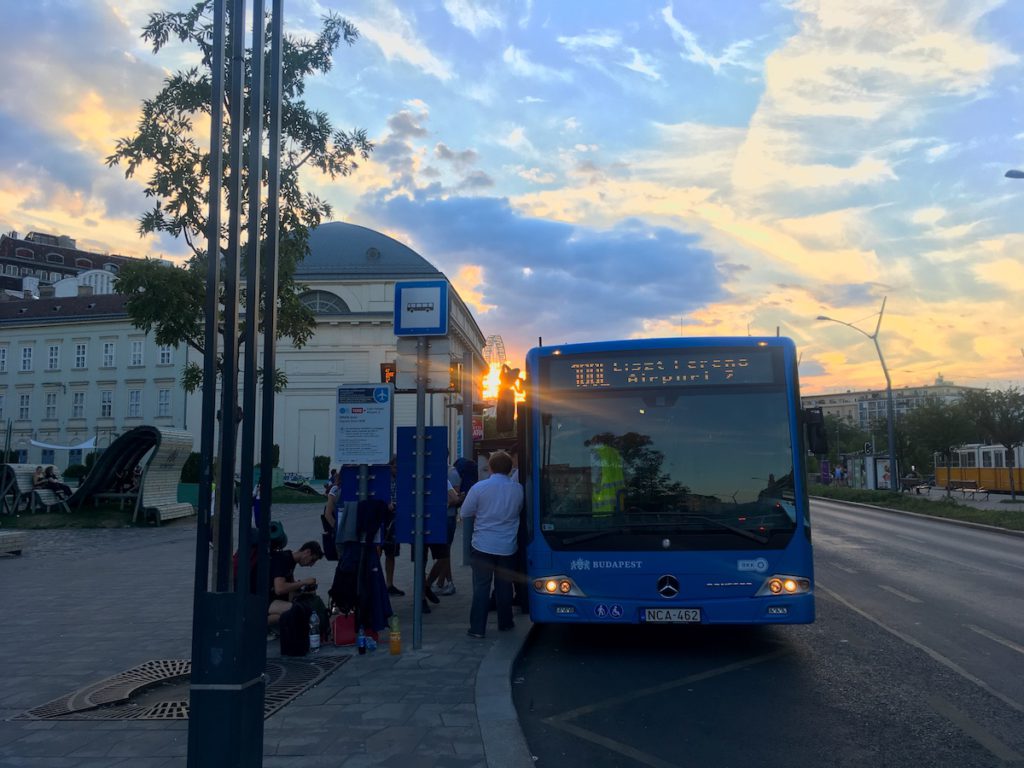
M 551 356 L 548 376 L 553 389 L 578 390 L 772 384 L 775 354 L 770 349 L 709 349 Z

